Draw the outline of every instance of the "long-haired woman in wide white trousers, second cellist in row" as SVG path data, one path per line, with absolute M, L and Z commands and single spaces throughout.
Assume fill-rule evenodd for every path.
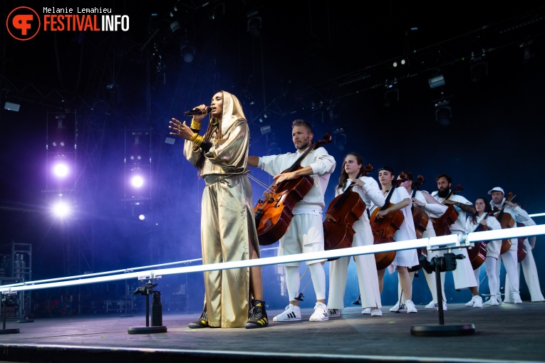
M 359 154 L 350 152 L 346 155 L 341 177 L 335 188 L 336 196 L 343 194 L 348 187 L 352 186 L 352 191 L 359 194 L 365 205 L 368 206 L 373 202 L 377 206 L 383 206 L 385 198 L 375 179 L 365 176 L 357 178 L 362 167 L 363 159 Z M 371 231 L 367 213 L 364 212 L 360 219 L 353 223 L 352 228 L 355 231 L 352 241 L 353 247 L 373 244 L 373 231 Z M 359 255 L 354 256 L 354 260 L 356 270 L 358 270 L 361 305 L 364 310 L 369 308 L 372 316 L 382 316 L 375 256 L 373 254 Z M 341 316 L 341 309 L 344 307 L 343 298 L 346 290 L 348 263 L 350 263 L 350 257 L 341 257 L 329 263 L 328 314 L 330 317 Z

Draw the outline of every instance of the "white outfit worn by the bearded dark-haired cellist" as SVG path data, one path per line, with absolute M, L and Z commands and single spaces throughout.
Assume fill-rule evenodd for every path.
M 437 191 L 434 191 L 432 193 L 432 196 L 440 203 L 445 201 L 445 198 L 437 195 Z M 470 201 L 465 199 L 463 196 L 457 194 L 452 194 L 449 199 L 451 201 L 457 201 L 460 204 L 466 204 L 468 206 L 472 205 Z M 466 213 L 462 211 L 462 209 L 460 209 L 459 207 L 454 207 L 458 212 L 458 218 L 456 219 L 455 223 L 452 223 L 452 225 L 450 226 L 450 232 L 452 234 L 465 233 Z M 440 215 L 432 213 L 430 214 L 430 216 L 433 218 L 437 218 Z M 445 251 L 438 252 L 439 256 L 443 256 L 446 253 Z M 467 256 L 467 248 L 454 249 L 452 250 L 452 253 L 465 256 L 465 258 L 463 258 L 462 260 L 456 260 L 456 269 L 452 271 L 452 278 L 454 278 L 455 289 L 461 290 L 464 288 L 472 288 L 474 286 L 477 286 L 477 280 L 475 280 L 473 268 L 471 267 L 471 262 L 469 262 L 469 257 Z

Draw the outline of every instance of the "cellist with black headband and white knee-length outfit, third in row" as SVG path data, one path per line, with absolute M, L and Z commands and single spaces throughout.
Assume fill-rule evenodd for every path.
M 382 186 L 383 195 L 388 195 L 390 189 L 395 188 L 393 185 L 393 180 L 395 178 L 394 171 L 391 167 L 382 167 L 378 170 L 378 181 L 380 181 L 380 186 Z M 393 211 L 402 211 L 404 220 L 401 223 L 398 231 L 395 231 L 393 236 L 395 241 L 407 241 L 416 239 L 415 224 L 412 221 L 412 212 L 410 211 L 411 201 L 410 195 L 405 188 L 395 188 L 390 197 L 390 203 L 394 204 L 387 209 L 378 211 L 377 219 L 382 219 L 386 214 Z M 401 283 L 401 289 L 403 290 L 403 295 L 405 296 L 405 306 L 407 307 L 407 312 L 417 312 L 415 304 L 412 302 L 412 286 L 410 284 L 408 268 L 417 265 L 418 258 L 416 249 L 402 250 L 395 253 L 395 259 L 393 263 L 388 266 L 390 268 L 396 268 L 398 270 L 398 276 Z M 380 292 L 383 290 L 384 283 L 384 272 L 385 269 L 378 270 L 378 285 L 380 287 Z M 393 271 L 391 271 L 393 272 Z M 399 304 L 396 304 L 390 308 L 390 311 L 397 311 L 399 309 Z

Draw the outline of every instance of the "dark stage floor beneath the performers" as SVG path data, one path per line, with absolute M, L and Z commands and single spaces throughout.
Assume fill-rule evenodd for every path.
M 269 327 L 191 330 L 198 314 L 164 315 L 165 333 L 128 334 L 145 327 L 145 315 L 53 317 L 22 324 L 0 336 L 0 360 L 7 362 L 545 362 L 545 302 L 503 304 L 482 309 L 451 304 L 445 325 L 474 324 L 474 335 L 419 337 L 413 325 L 439 325 L 438 312 L 417 306 L 417 314 L 361 315 L 347 307 L 341 317 Z M 272 320 L 280 310 L 268 312 Z M 4 331 L 4 330 L 3 330 Z

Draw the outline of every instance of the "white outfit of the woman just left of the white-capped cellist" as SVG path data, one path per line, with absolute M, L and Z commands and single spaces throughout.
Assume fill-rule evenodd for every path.
M 475 219 L 475 223 L 473 223 L 472 218 L 469 217 L 465 223 L 466 232 L 471 233 L 475 231 L 475 229 L 479 226 L 479 224 L 485 217 L 487 219 L 487 226 L 489 230 L 502 229 L 502 226 L 499 224 L 497 219 L 495 219 L 493 216 L 487 216 L 487 213 L 485 213 L 482 216 L 477 216 L 477 218 Z M 472 243 L 472 245 L 474 246 L 474 243 Z M 496 295 L 496 292 L 498 290 L 496 266 L 499 265 L 497 261 L 499 258 L 499 251 L 501 249 L 502 249 L 501 240 L 489 241 L 487 243 L 487 257 L 484 258 L 484 267 L 487 269 L 488 287 L 490 290 L 490 295 Z M 474 270 L 475 280 L 477 280 L 477 284 L 479 284 L 480 272 L 481 272 L 480 266 L 479 268 L 476 268 Z

